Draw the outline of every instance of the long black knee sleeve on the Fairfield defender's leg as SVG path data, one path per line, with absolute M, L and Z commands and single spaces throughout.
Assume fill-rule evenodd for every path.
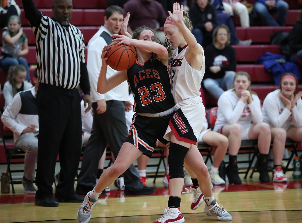
M 169 148 L 170 179 L 184 178 L 184 159 L 189 149 L 185 146 L 171 142 Z

